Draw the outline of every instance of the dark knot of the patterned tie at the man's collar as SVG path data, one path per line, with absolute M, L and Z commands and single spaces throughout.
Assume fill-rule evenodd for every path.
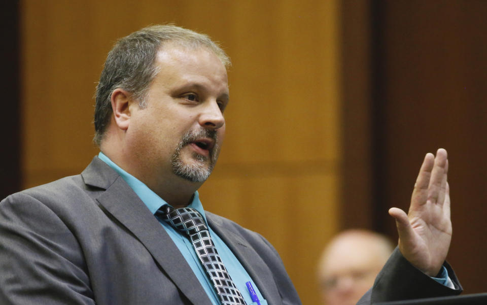
M 192 208 L 173 209 L 164 206 L 157 210 L 156 214 L 172 227 L 188 235 L 208 229 L 201 214 Z

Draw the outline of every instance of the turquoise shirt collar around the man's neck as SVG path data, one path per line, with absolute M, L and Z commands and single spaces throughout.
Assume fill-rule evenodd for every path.
M 139 198 L 141 198 L 142 202 L 146 205 L 146 207 L 151 211 L 152 214 L 156 213 L 156 211 L 163 207 L 163 206 L 170 206 L 164 199 L 159 197 L 156 193 L 154 193 L 147 185 L 145 185 L 142 181 L 138 180 L 137 178 L 133 177 L 129 173 L 122 170 L 120 166 L 115 164 L 109 157 L 105 154 L 100 152 L 98 154 L 98 158 L 100 158 L 103 162 L 107 163 L 110 167 L 113 168 L 120 177 L 127 182 L 128 186 L 137 194 Z M 201 205 L 201 201 L 199 201 L 199 194 L 198 191 L 194 192 L 193 200 L 188 205 L 187 208 L 193 208 L 201 214 L 204 221 L 206 222 L 206 216 L 204 215 L 203 206 Z

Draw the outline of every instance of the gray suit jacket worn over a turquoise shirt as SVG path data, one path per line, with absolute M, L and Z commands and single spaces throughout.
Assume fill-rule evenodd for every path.
M 260 234 L 212 213 L 206 216 L 269 305 L 301 304 L 281 258 Z M 426 281 L 419 281 L 422 291 L 456 293 L 416 274 L 403 260 L 400 253 L 393 255 L 392 267 L 382 271 L 382 281 L 364 304 L 382 300 L 382 295 L 402 298 L 403 289 L 415 289 L 409 274 Z M 398 273 L 407 277 L 401 280 Z M 401 289 L 391 288 L 388 279 Z M 125 181 L 95 157 L 81 175 L 0 202 L 0 304 L 211 302 L 157 219 Z

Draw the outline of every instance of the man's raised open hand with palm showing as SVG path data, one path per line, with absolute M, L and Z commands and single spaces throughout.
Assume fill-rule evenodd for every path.
M 408 214 L 398 208 L 389 210 L 396 219 L 402 255 L 432 277 L 440 271 L 451 241 L 447 172 L 446 150 L 438 149 L 436 157 L 426 154 L 414 184 Z

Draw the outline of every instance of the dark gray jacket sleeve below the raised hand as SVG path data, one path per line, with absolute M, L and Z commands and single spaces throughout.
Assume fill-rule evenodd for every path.
M 433 280 L 402 256 L 398 248 L 384 265 L 370 289 L 357 303 L 368 305 L 377 302 L 407 300 L 426 297 L 458 295 L 462 292 L 457 276 L 447 262 L 448 276 L 455 285 L 451 289 Z

